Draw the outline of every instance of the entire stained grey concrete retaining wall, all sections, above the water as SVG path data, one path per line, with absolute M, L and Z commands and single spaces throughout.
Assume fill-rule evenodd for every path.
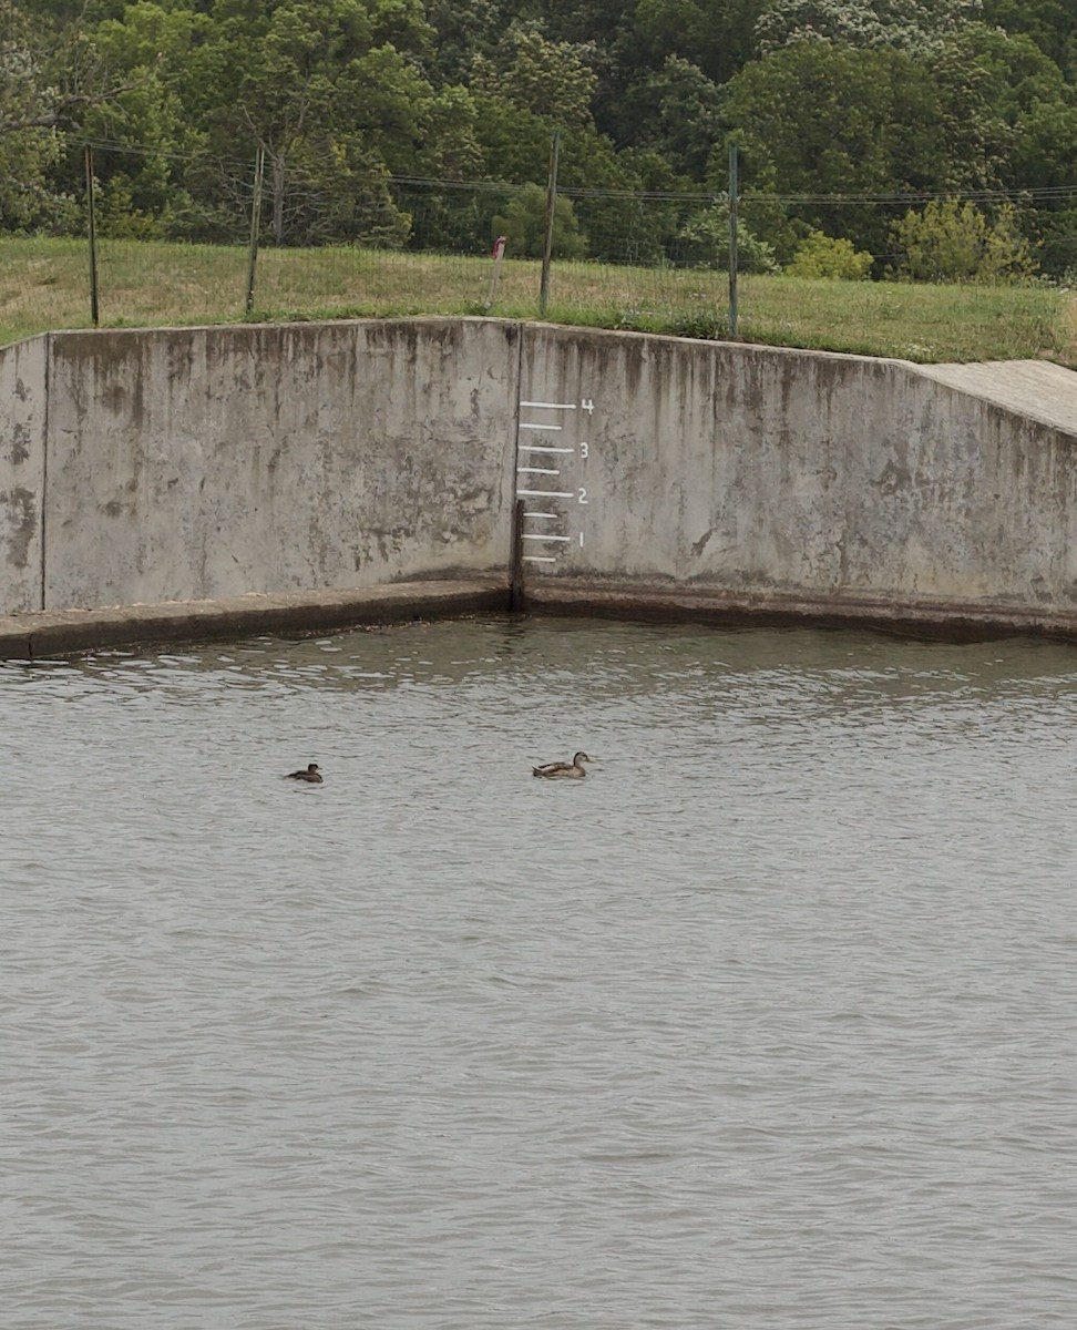
M 1052 372 L 1033 416 L 937 367 L 483 319 L 53 334 L 0 351 L 0 613 L 501 577 L 538 489 L 536 593 L 1077 616 Z

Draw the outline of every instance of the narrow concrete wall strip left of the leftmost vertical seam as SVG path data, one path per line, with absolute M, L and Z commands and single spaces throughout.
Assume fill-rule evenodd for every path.
M 0 613 L 41 605 L 47 340 L 0 351 Z

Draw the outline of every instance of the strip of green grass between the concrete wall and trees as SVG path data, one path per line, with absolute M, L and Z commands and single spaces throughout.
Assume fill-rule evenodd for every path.
M 493 314 L 538 318 L 537 262 L 507 259 L 496 298 L 488 258 L 358 249 L 262 250 L 259 321 Z M 245 319 L 241 247 L 105 239 L 101 327 Z M 1046 287 L 912 286 L 742 277 L 738 335 L 770 346 L 899 356 L 920 363 L 1049 359 L 1077 368 L 1077 295 Z M 725 273 L 556 262 L 545 318 L 554 323 L 723 336 Z M 0 238 L 0 346 L 90 327 L 86 245 Z

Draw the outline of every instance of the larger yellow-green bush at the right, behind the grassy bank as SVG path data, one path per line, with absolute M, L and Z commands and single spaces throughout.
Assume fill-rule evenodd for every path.
M 1020 285 L 1036 274 L 1017 214 L 1003 203 L 995 222 L 973 203 L 932 200 L 921 211 L 909 209 L 894 226 L 903 250 L 895 275 L 917 282 L 983 282 Z

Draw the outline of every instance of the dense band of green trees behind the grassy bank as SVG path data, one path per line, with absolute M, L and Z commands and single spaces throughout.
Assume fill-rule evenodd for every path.
M 92 142 L 104 231 L 237 241 L 261 148 L 278 246 L 481 253 L 554 130 L 592 259 L 718 263 L 730 137 L 782 263 L 878 278 L 931 197 L 1077 257 L 1072 0 L 0 0 L 0 234 L 81 225 Z

